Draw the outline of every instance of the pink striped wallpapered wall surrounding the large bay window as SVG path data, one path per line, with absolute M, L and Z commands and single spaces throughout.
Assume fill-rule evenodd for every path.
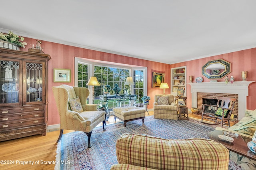
M 28 48 L 32 47 L 30 44 L 36 44 L 36 40 L 31 38 L 25 38 L 28 45 L 21 50 L 28 51 Z M 130 65 L 138 65 L 142 67 L 148 67 L 148 96 L 151 97 L 150 105 L 148 108 L 153 108 L 153 101 L 155 94 L 162 94 L 163 89 L 152 88 L 152 72 L 165 73 L 165 82 L 170 85 L 170 65 L 164 63 L 158 63 L 154 61 L 148 61 L 144 59 L 136 59 L 132 57 L 126 57 L 122 55 L 116 55 L 111 53 L 105 53 L 100 51 L 94 51 L 90 49 L 84 49 L 79 47 L 73 47 L 69 45 L 63 45 L 52 42 L 42 41 L 42 48 L 44 53 L 50 54 L 52 59 L 49 61 L 48 70 L 48 125 L 55 125 L 60 123 L 57 107 L 54 101 L 54 95 L 52 94 L 52 86 L 58 86 L 62 83 L 53 82 L 53 68 L 71 69 L 71 83 L 68 85 L 74 85 L 74 60 L 75 57 L 96 59 L 101 61 L 110 61 L 114 63 L 124 63 Z M 170 89 L 166 89 L 165 93 L 170 93 Z

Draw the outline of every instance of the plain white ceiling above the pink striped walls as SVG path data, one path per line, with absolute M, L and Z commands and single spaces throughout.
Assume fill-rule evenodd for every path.
M 256 47 L 256 0 L 1 0 L 0 6 L 1 32 L 162 63 Z

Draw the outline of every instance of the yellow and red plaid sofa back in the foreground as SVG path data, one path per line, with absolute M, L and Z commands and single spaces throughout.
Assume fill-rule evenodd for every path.
M 210 139 L 168 140 L 122 134 L 116 142 L 119 164 L 111 170 L 227 170 L 228 149 Z

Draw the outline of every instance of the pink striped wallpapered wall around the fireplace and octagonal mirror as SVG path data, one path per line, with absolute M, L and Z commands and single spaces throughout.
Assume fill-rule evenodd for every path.
M 241 71 L 248 71 L 247 81 L 256 81 L 256 48 L 246 49 L 242 51 L 236 51 L 232 53 L 226 53 L 222 55 L 215 55 L 212 57 L 206 57 L 202 59 L 196 59 L 192 61 L 186 61 L 182 63 L 172 64 L 173 67 L 187 66 L 187 82 L 189 82 L 189 75 L 194 76 L 193 82 L 195 82 L 196 77 L 203 77 L 203 82 L 210 82 L 210 79 L 204 77 L 201 72 L 202 66 L 210 60 L 214 59 L 224 59 L 231 63 L 231 73 L 228 74 L 230 78 L 231 75 L 234 76 L 235 81 L 242 81 Z M 218 81 L 224 81 L 225 77 L 219 79 Z M 256 83 L 251 83 L 249 85 L 249 95 L 247 97 L 247 109 L 256 109 Z M 188 108 L 191 108 L 191 93 L 190 85 L 187 85 L 187 98 L 188 98 Z

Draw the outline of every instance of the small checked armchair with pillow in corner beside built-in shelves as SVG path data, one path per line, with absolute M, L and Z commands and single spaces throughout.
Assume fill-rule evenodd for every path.
M 155 95 L 154 118 L 178 120 L 178 105 L 173 95 Z

